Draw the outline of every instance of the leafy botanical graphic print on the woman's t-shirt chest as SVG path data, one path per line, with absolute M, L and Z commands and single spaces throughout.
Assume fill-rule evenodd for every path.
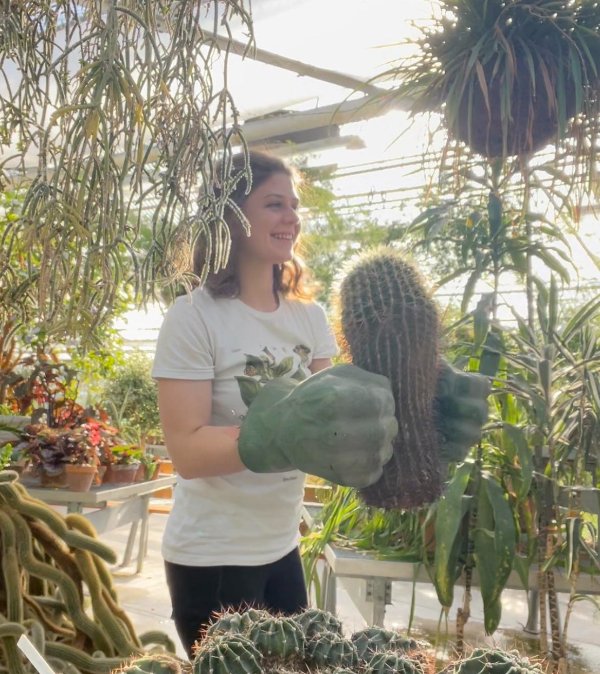
M 266 346 L 258 356 L 246 354 L 244 374 L 236 377 L 246 407 L 250 407 L 260 389 L 273 379 L 288 375 L 297 381 L 306 379 L 310 349 L 304 344 L 297 344 L 292 350 L 294 356 L 284 356 L 279 362 Z M 293 374 L 290 375 L 290 372 Z

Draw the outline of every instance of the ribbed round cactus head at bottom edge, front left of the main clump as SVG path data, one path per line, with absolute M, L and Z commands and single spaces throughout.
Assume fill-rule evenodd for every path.
M 262 654 L 239 634 L 205 639 L 198 645 L 193 674 L 262 674 Z

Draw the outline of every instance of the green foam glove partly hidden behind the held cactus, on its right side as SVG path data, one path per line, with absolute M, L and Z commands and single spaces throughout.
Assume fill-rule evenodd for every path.
M 479 442 L 489 414 L 489 392 L 487 377 L 457 370 L 442 360 L 435 401 L 442 462 L 462 461 L 469 449 Z

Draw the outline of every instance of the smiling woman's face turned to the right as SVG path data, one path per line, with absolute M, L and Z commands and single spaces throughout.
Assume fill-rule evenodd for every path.
M 298 207 L 298 193 L 285 173 L 274 173 L 252 190 L 242 206 L 251 230 L 249 237 L 242 234 L 240 254 L 270 265 L 290 260 L 300 234 Z

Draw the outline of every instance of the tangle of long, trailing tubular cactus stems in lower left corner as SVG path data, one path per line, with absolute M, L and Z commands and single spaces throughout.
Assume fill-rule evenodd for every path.
M 34 499 L 0 472 L 0 672 L 27 674 L 26 634 L 56 671 L 105 673 L 149 644 L 174 651 L 162 632 L 136 635 L 106 565 L 114 551 L 78 514 Z

